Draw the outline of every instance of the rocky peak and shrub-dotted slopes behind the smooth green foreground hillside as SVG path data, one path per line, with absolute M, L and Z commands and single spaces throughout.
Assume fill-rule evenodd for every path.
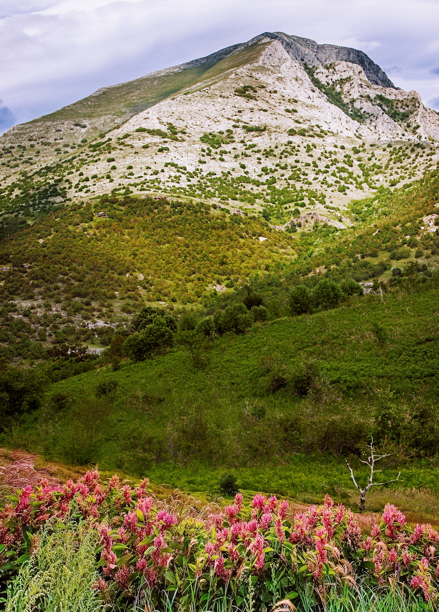
M 58 317 L 50 348 L 258 274 L 275 316 L 301 280 L 435 267 L 438 130 L 363 52 L 279 32 L 100 89 L 1 137 L 0 299 Z

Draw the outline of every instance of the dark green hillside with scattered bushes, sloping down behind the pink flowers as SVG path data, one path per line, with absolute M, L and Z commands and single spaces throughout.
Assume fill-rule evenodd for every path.
M 213 490 L 232 469 L 244 489 L 312 497 L 350 488 L 340 458 L 372 434 L 392 455 L 386 477 L 405 467 L 405 487 L 437 490 L 438 276 L 411 281 L 384 300 L 199 340 L 194 358 L 177 344 L 101 364 L 53 384 L 2 444 L 183 490 Z

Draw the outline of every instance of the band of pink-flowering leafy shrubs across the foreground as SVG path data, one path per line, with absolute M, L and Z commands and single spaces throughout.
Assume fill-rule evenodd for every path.
M 201 609 L 227 597 L 236 606 L 250 598 L 258 609 L 294 600 L 306 584 L 325 600 L 330 584 L 355 587 L 358 578 L 379 588 L 404 583 L 427 602 L 439 599 L 438 532 L 411 529 L 389 504 L 363 536 L 355 515 L 328 496 L 293 516 L 275 496 L 257 494 L 249 509 L 237 493 L 223 512 L 202 516 L 155 498 L 148 479 L 135 488 L 117 476 L 98 479 L 97 471 L 64 485 L 43 479 L 10 498 L 0 513 L 3 582 L 35 553 L 49 518 L 76 517 L 97 531 L 95 591 L 120 607 L 141 597 L 159 609 L 171 600 Z

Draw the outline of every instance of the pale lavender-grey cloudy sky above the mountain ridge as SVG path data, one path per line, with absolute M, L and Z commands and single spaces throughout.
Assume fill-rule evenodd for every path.
M 2 0 L 0 133 L 265 31 L 363 50 L 439 110 L 439 0 Z

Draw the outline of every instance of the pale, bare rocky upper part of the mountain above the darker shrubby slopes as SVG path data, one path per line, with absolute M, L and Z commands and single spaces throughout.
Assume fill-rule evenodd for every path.
M 97 195 L 113 190 L 115 181 L 118 187 L 127 183 L 133 187 L 130 176 L 139 173 L 142 181 L 135 187 L 157 191 L 159 184 L 166 185 L 157 178 L 148 185 L 146 170 L 152 165 L 162 170 L 166 162 L 233 176 L 256 177 L 261 171 L 272 176 L 277 171 L 275 176 L 284 185 L 312 182 L 314 201 L 334 193 L 335 187 L 330 198 L 336 207 L 343 207 L 348 188 L 350 195 L 361 198 L 380 184 L 420 177 L 427 166 L 416 160 L 392 168 L 389 149 L 369 155 L 369 146 L 429 143 L 434 157 L 433 143 L 438 140 L 436 111 L 426 108 L 417 92 L 395 88 L 362 51 L 265 32 L 205 58 L 98 89 L 55 113 L 12 127 L 0 138 L 0 177 L 9 185 L 11 171 L 35 170 L 82 156 L 76 166 L 86 162 L 88 167 L 92 161 L 90 173 L 96 175 L 94 184 L 87 185 L 94 188 L 85 191 Z M 367 160 L 355 159 L 363 143 Z M 276 144 L 281 151 L 287 147 L 281 154 L 284 162 L 268 168 Z M 344 177 L 346 188 L 341 190 L 339 176 L 335 182 L 326 180 L 331 167 L 325 168 L 328 160 L 322 157 L 323 151 L 340 146 L 346 147 L 344 159 L 349 154 L 353 174 L 348 181 Z M 304 150 L 310 148 L 319 150 L 312 165 L 308 157 L 313 154 Z M 110 157 L 114 162 L 106 161 Z M 238 170 L 238 158 L 245 169 Z M 293 159 L 299 161 L 292 165 Z M 369 169 L 366 161 L 372 162 Z M 311 173 L 303 173 L 307 163 Z M 127 174 L 130 165 L 132 172 Z M 111 170 L 111 166 L 116 167 Z M 288 170 L 283 176 L 280 166 Z M 81 179 L 73 174 L 72 181 L 78 184 Z M 361 180 L 365 174 L 367 181 Z M 180 173 L 179 184 L 169 187 L 193 194 L 191 183 Z M 84 195 L 77 193 L 69 195 Z

